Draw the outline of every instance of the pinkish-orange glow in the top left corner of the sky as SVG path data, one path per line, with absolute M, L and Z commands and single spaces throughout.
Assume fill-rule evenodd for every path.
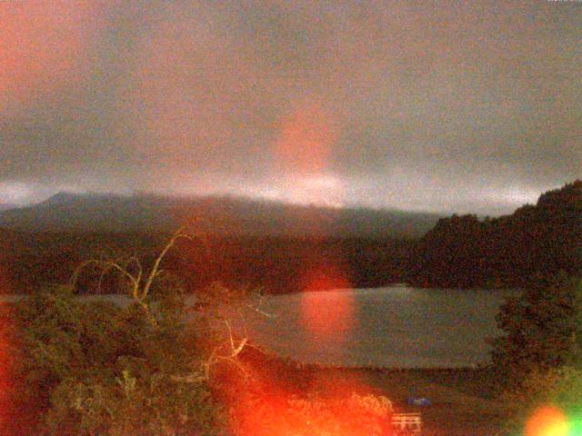
M 90 5 L 0 2 L 0 112 L 75 83 L 97 21 Z

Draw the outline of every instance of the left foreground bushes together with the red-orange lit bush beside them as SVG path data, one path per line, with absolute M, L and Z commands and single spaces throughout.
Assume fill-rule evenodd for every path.
M 220 309 L 247 302 L 243 294 L 215 285 L 184 322 L 181 294 L 168 289 L 153 288 L 127 307 L 82 302 L 70 288 L 2 307 L 0 434 L 380 436 L 389 430 L 386 397 L 354 386 L 311 389 L 295 365 L 267 357 L 232 332 Z

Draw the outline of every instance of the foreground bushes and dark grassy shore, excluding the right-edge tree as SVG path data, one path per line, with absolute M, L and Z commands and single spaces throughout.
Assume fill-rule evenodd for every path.
M 224 298 L 241 296 L 215 293 L 185 324 L 179 294 L 160 295 L 156 327 L 138 304 L 81 302 L 65 288 L 5 306 L 0 433 L 385 436 L 393 412 L 422 411 L 427 436 L 485 436 L 510 416 L 491 369 L 306 367 L 252 344 L 233 356 L 215 323 Z M 431 405 L 407 404 L 414 395 Z

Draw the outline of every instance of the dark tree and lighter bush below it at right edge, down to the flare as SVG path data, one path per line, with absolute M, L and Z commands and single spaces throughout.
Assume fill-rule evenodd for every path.
M 538 277 L 507 300 L 497 325 L 504 335 L 491 341 L 492 369 L 508 405 L 507 434 L 531 427 L 529 417 L 548 405 L 580 416 L 582 279 Z

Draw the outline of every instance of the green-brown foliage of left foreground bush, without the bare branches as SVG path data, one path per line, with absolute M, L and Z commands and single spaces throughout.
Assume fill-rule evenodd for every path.
M 141 306 L 82 301 L 68 288 L 41 292 L 15 311 L 23 395 L 43 420 L 33 434 L 216 434 L 221 411 L 204 380 L 176 381 L 204 360 L 176 290 Z

